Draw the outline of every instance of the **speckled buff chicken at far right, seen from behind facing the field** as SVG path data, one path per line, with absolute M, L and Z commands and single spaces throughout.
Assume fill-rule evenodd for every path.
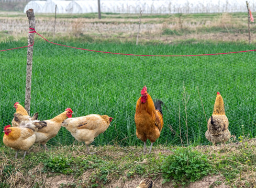
M 228 130 L 228 118 L 225 115 L 224 101 L 219 92 L 217 92 L 213 115 L 210 116 L 207 127 L 205 137 L 214 145 L 226 142 L 231 136 Z

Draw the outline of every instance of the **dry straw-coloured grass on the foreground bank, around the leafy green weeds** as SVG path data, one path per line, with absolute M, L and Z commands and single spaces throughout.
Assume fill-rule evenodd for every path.
M 188 187 L 255 187 L 255 140 L 191 147 L 191 152 L 197 150 L 208 156 L 217 175 L 209 175 L 201 181 L 189 184 Z M 25 160 L 15 160 L 14 151 L 2 147 L 0 175 L 8 187 L 59 187 L 61 184 L 66 184 L 64 187 L 78 184 L 85 187 L 135 187 L 145 177 L 153 179 L 154 187 L 173 187 L 171 182 L 162 184 L 161 171 L 157 170 L 157 163 L 152 166 L 152 160 L 159 161 L 172 155 L 173 149 L 176 148 L 155 146 L 151 155 L 144 156 L 142 147 L 91 146 L 90 150 L 96 151 L 96 155 L 88 156 L 84 145 L 74 143 L 73 146 L 51 147 L 47 152 L 44 152 L 42 147 L 34 146 Z M 87 161 L 88 165 L 94 168 L 86 169 L 86 163 L 81 163 L 81 166 L 78 162 L 77 166 L 72 167 L 74 171 L 71 174 L 43 171 L 43 161 L 56 156 L 72 159 L 73 163 Z M 107 166 L 104 166 L 104 163 Z M 146 167 L 146 173 L 128 175 L 132 171 L 132 166 L 136 165 Z M 118 169 L 121 173 L 112 171 L 112 168 Z M 104 170 L 108 171 L 108 174 L 105 174 L 105 183 L 100 179 Z M 93 179 L 98 182 L 98 186 L 93 186 L 96 183 Z

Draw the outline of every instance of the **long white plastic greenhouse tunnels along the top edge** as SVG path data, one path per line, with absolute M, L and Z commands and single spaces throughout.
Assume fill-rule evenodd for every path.
M 39 4 L 44 1 L 30 1 L 24 11 L 33 8 L 39 13 Z M 246 2 L 241 0 L 100 0 L 102 13 L 139 14 L 175 14 L 175 13 L 233 13 L 247 12 Z M 27 7 L 29 4 L 30 7 Z M 32 7 L 32 4 L 34 7 Z M 61 1 L 48 0 L 44 2 L 42 13 L 97 13 L 97 0 Z M 251 11 L 256 11 L 256 0 L 249 2 Z

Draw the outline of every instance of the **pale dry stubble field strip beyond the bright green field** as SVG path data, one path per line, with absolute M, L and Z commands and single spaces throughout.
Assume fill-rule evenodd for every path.
M 177 40 L 214 40 L 214 41 L 247 41 L 247 15 L 246 14 L 205 14 L 149 16 L 141 18 L 140 39 L 142 41 L 160 41 L 170 43 Z M 27 37 L 28 21 L 24 13 L 0 12 L 0 42 L 6 41 L 8 36 L 14 40 Z M 119 17 L 117 17 L 119 16 Z M 139 18 L 136 15 L 104 15 L 101 20 L 97 18 L 61 18 L 57 16 L 55 33 L 57 38 L 71 37 L 83 38 L 90 36 L 95 40 L 136 40 Z M 54 15 L 36 15 L 36 30 L 43 36 L 52 38 L 54 28 Z M 253 31 L 254 25 L 251 30 Z M 170 31 L 166 32 L 166 30 Z M 175 31 L 175 32 L 172 32 Z M 252 41 L 255 38 L 252 33 Z

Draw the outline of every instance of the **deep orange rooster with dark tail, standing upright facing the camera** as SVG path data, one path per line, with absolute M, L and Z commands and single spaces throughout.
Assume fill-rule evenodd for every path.
M 135 124 L 136 136 L 144 142 L 144 154 L 146 153 L 146 141 L 150 140 L 151 152 L 153 143 L 158 139 L 163 128 L 163 114 L 161 109 L 162 101 L 156 100 L 153 102 L 147 87 L 144 86 L 141 90 L 141 97 L 136 104 Z

